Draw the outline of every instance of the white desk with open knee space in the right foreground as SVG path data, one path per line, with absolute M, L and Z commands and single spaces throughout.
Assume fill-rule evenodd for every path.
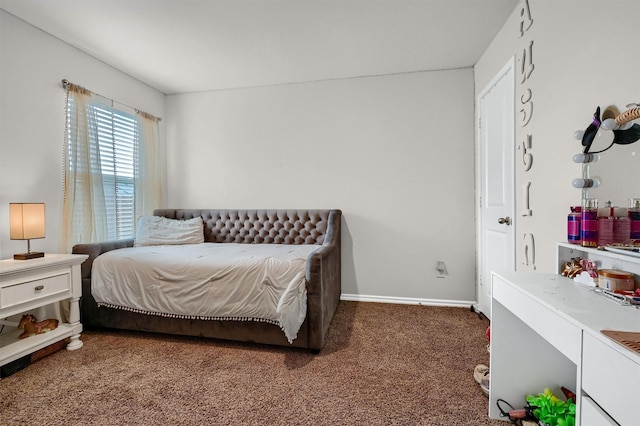
M 491 418 L 499 398 L 522 408 L 526 395 L 562 397 L 565 386 L 577 424 L 640 425 L 640 354 L 600 332 L 640 332 L 640 309 L 556 274 L 494 273 L 492 286 Z

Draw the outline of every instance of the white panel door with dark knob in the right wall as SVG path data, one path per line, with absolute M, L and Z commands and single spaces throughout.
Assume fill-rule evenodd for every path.
M 477 310 L 491 318 L 491 271 L 515 269 L 514 61 L 478 96 Z

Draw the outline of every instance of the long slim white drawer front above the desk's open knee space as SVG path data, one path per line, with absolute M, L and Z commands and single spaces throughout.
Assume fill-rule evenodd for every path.
M 493 276 L 493 298 L 509 309 L 571 362 L 580 363 L 582 331 L 513 285 Z

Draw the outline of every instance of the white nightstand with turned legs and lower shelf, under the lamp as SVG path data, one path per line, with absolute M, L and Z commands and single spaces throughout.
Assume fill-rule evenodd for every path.
M 7 364 L 59 340 L 71 338 L 68 350 L 80 349 L 80 265 L 88 256 L 46 254 L 31 260 L 0 260 L 0 319 L 69 300 L 69 322 L 43 334 L 19 339 L 22 330 L 0 334 L 0 365 Z M 39 318 L 44 319 L 44 318 Z

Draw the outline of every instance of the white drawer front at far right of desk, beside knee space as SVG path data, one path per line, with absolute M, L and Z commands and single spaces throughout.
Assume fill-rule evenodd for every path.
M 620 346 L 616 350 L 585 333 L 582 389 L 616 422 L 635 425 L 640 419 L 640 364 L 623 355 L 624 351 L 628 349 Z

